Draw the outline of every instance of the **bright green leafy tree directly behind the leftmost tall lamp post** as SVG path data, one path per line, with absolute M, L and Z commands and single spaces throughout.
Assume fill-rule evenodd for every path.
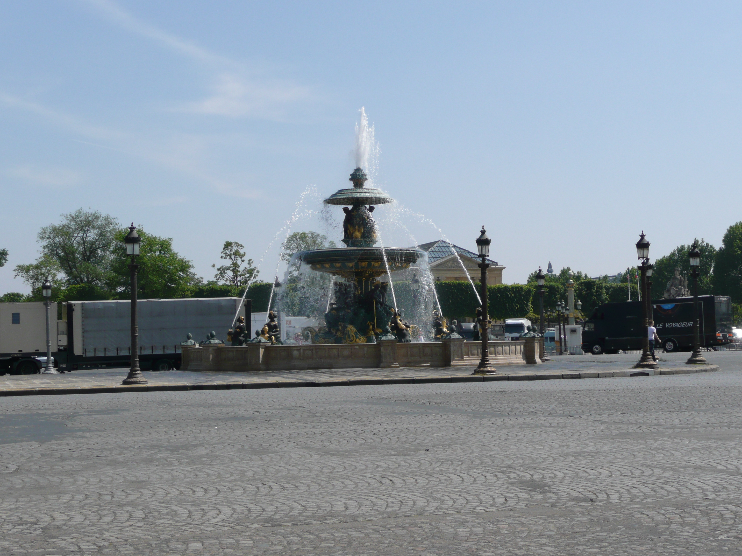
M 131 257 L 126 254 L 124 237 L 128 228 L 119 229 L 114 234 L 113 262 L 108 279 L 108 288 L 119 297 L 131 295 Z M 183 297 L 194 285 L 203 282 L 193 272 L 193 263 L 180 257 L 173 250 L 173 239 L 147 234 L 137 229 L 142 238 L 139 247 L 137 290 L 140 299 L 172 299 Z

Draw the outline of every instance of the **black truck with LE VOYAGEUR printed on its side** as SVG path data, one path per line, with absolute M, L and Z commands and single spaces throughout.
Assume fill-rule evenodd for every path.
M 693 345 L 693 298 L 657 299 L 651 316 L 664 351 L 688 351 Z M 729 297 L 698 297 L 700 345 L 714 347 L 731 343 L 732 300 Z M 582 351 L 615 354 L 643 348 L 647 334 L 642 320 L 642 302 L 604 303 L 582 325 Z

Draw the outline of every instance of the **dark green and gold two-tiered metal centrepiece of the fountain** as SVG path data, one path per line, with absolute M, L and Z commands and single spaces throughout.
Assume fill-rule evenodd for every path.
M 387 305 L 389 282 L 379 277 L 410 268 L 423 251 L 415 248 L 376 247 L 375 205 L 392 202 L 387 193 L 365 187 L 368 176 L 361 168 L 350 174 L 352 188 L 341 189 L 324 200 L 341 205 L 344 248 L 316 249 L 298 255 L 313 271 L 332 274 L 335 302 L 325 314 L 326 329 L 315 331 L 312 343 L 374 343 L 393 338 L 389 328 L 392 307 Z

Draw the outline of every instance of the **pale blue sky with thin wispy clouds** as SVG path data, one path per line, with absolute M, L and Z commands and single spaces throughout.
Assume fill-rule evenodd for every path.
M 79 207 L 173 237 L 206 279 L 225 239 L 267 251 L 269 279 L 301 193 L 347 186 L 362 106 L 400 205 L 385 245 L 438 239 L 430 219 L 473 248 L 484 224 L 505 282 L 621 271 L 642 230 L 652 257 L 719 245 L 742 219 L 741 27 L 732 2 L 5 2 L 0 293 Z

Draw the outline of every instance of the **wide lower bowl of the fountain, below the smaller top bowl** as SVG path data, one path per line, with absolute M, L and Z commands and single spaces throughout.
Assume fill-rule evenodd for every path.
M 345 278 L 376 278 L 387 274 L 384 265 L 387 257 L 389 272 L 410 268 L 424 251 L 416 248 L 390 247 L 341 247 L 334 249 L 315 249 L 304 251 L 301 260 L 312 267 L 313 271 L 326 272 L 333 276 Z

